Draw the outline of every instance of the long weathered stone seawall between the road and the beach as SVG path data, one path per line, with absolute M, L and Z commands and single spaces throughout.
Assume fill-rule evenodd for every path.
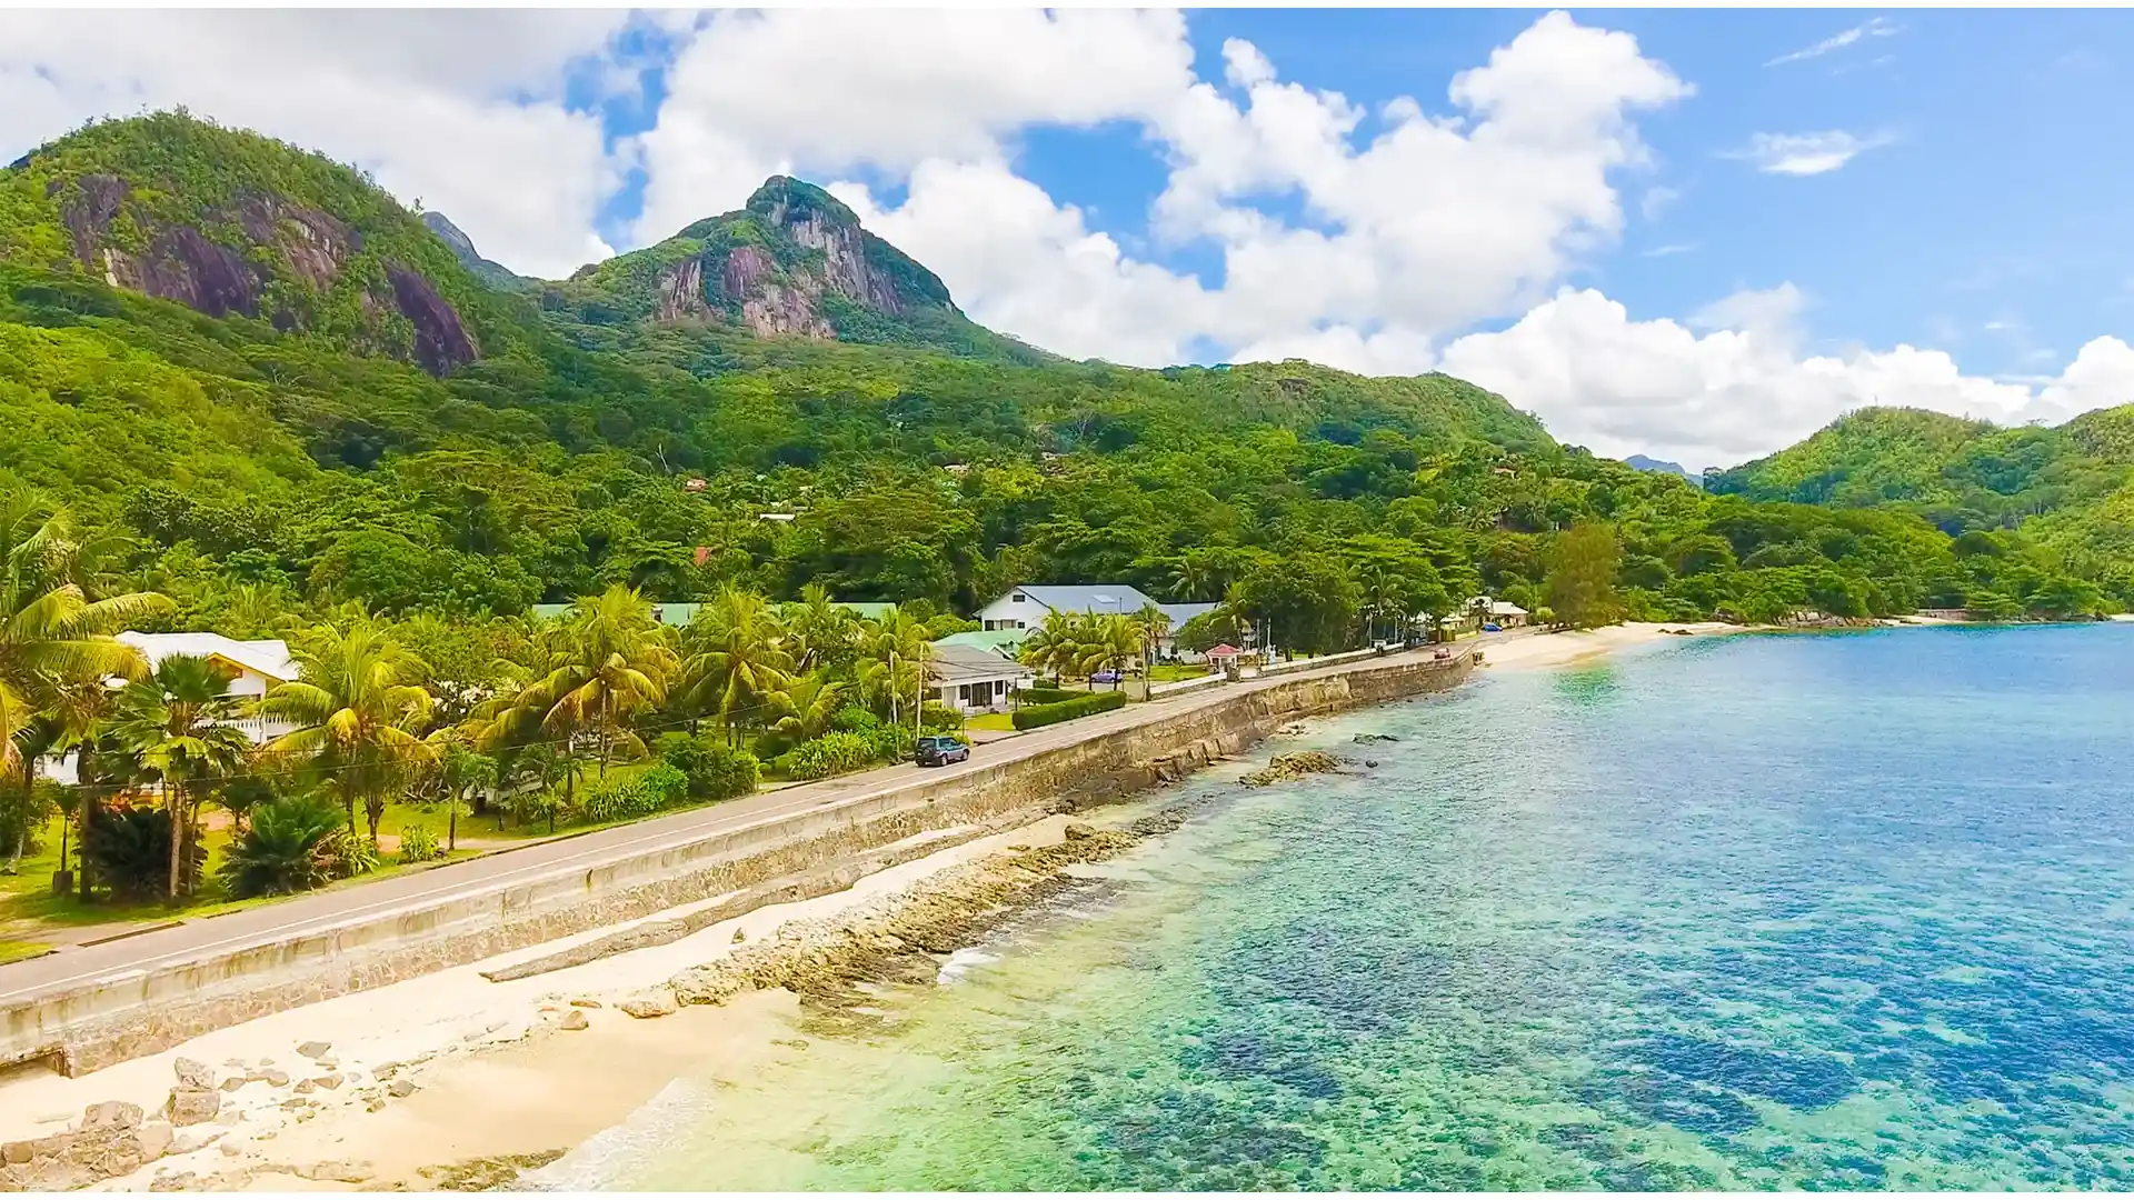
M 980 771 L 826 803 L 531 882 L 352 916 L 331 931 L 105 978 L 6 1010 L 0 1063 L 83 1074 L 201 1033 L 711 899 L 719 920 L 854 880 L 1046 811 L 1112 801 L 1238 754 L 1287 722 L 1451 688 L 1466 656 L 1359 662 L 1225 688 L 1144 724 Z M 1012 743 L 1009 743 L 1012 745 Z M 937 831 L 937 837 L 926 837 Z M 361 905 L 361 888 L 350 893 Z

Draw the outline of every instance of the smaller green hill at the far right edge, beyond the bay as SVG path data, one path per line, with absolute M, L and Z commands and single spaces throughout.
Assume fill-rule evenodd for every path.
M 1950 534 L 2021 530 L 2108 570 L 2134 559 L 2134 406 L 2059 427 L 2002 429 L 1916 408 L 1865 408 L 1805 442 L 1705 476 L 1716 493 L 1893 506 Z

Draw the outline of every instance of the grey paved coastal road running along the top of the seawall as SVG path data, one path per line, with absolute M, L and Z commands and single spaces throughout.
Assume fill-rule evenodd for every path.
M 843 775 L 839 779 L 824 779 L 819 784 L 785 788 L 779 792 L 760 792 L 743 801 L 728 801 L 723 805 L 604 828 L 583 837 L 542 841 L 525 850 L 510 850 L 427 871 L 412 871 L 354 888 L 316 893 L 262 907 L 186 920 L 184 925 L 171 929 L 149 929 L 145 933 L 122 937 L 117 942 L 105 942 L 100 946 L 75 946 L 41 959 L 0 967 L 0 1006 L 15 1006 L 58 995 L 96 980 L 115 980 L 171 963 L 186 963 L 203 954 L 230 952 L 245 946 L 288 940 L 292 935 L 341 925 L 354 916 L 382 914 L 399 907 L 450 899 L 461 893 L 587 871 L 615 858 L 659 850 L 664 846 L 685 846 L 764 818 L 800 814 L 858 796 L 890 792 L 909 786 L 920 775 L 967 775 L 1061 745 L 1110 737 L 1118 730 L 1172 713 L 1193 711 L 1242 692 L 1274 688 L 1295 679 L 1340 675 L 1364 664 L 1385 666 L 1394 662 L 1421 662 L 1426 658 L 1428 653 L 1423 651 L 1408 651 L 1308 670 L 1289 670 L 1274 677 L 1246 679 L 1242 683 L 1195 688 L 1184 694 L 1159 694 L 1146 705 L 1063 722 L 1058 726 L 975 747 L 971 760 L 956 767 L 937 767 L 926 771 L 911 764 L 883 767 L 860 775 Z

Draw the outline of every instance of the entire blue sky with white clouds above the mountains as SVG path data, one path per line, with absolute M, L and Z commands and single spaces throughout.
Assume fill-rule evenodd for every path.
M 188 105 L 551 278 L 790 171 L 1073 357 L 1451 369 L 1703 465 L 2134 399 L 2130 51 L 2128 11 L 0 13 L 0 156 Z

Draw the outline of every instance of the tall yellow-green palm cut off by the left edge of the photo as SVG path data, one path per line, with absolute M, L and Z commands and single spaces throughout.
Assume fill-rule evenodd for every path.
M 17 739 L 55 690 L 147 675 L 141 651 L 111 634 L 171 609 L 154 591 L 92 598 L 94 557 L 64 510 L 28 493 L 0 500 L 0 777 L 26 788 L 36 758 Z

